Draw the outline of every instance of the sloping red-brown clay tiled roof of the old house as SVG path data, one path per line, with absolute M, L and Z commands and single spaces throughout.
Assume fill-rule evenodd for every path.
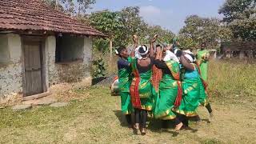
M 0 0 L 0 30 L 46 30 L 59 33 L 104 36 L 104 34 L 42 0 Z

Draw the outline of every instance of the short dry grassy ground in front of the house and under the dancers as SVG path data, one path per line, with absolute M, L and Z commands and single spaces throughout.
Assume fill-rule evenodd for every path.
M 120 98 L 110 96 L 108 87 L 62 94 L 65 101 L 68 94 L 80 98 L 62 108 L 1 109 L 0 143 L 256 143 L 255 99 L 212 98 L 214 118 L 209 121 L 206 109 L 199 108 L 202 122 L 190 122 L 194 130 L 162 130 L 161 122 L 150 119 L 147 134 L 141 136 L 127 128 Z

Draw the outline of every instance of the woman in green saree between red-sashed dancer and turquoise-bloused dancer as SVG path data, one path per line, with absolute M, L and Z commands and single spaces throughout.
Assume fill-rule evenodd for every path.
M 175 106 L 179 106 L 182 100 L 178 58 L 170 50 L 166 50 L 163 61 L 161 55 L 162 50 L 157 47 L 155 66 L 162 70 L 162 80 L 159 85 L 154 117 L 162 119 L 164 123 L 171 120 L 176 125 L 175 130 L 180 130 L 183 124 L 172 111 Z M 176 61 L 172 56 L 176 58 Z

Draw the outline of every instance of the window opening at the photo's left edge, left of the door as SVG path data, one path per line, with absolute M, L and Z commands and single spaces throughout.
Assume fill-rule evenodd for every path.
M 6 34 L 0 34 L 0 66 L 10 62 L 8 50 L 8 38 Z

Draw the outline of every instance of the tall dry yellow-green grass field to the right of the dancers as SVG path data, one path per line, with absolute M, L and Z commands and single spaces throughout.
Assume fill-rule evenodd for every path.
M 256 100 L 256 64 L 212 61 L 209 69 L 211 97 L 224 102 Z

